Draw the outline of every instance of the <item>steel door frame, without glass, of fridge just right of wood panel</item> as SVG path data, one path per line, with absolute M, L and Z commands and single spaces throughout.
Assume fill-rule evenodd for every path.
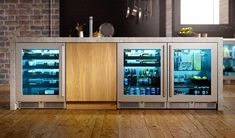
M 167 43 L 118 43 L 118 102 L 166 102 L 167 101 L 167 76 L 166 71 L 166 45 Z M 124 67 L 124 49 L 160 49 L 161 50 L 161 95 L 128 96 L 124 95 L 123 87 L 123 67 Z

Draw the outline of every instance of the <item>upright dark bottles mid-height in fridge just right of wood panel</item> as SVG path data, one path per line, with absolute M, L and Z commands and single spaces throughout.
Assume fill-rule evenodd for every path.
M 157 86 L 160 85 L 159 71 L 156 69 L 125 69 L 125 86 Z

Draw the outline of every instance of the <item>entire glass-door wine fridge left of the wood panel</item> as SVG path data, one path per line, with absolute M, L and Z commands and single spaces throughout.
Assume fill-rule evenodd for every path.
M 16 100 L 19 108 L 64 108 L 63 43 L 16 44 Z

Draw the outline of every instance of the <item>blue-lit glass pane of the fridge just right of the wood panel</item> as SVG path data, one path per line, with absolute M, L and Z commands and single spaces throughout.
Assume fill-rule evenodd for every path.
M 124 50 L 124 95 L 160 95 L 160 49 Z

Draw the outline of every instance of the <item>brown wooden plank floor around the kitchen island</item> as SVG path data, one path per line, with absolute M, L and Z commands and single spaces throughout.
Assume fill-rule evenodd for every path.
M 224 85 L 223 112 L 8 109 L 9 92 L 0 92 L 0 138 L 235 137 L 235 85 Z

